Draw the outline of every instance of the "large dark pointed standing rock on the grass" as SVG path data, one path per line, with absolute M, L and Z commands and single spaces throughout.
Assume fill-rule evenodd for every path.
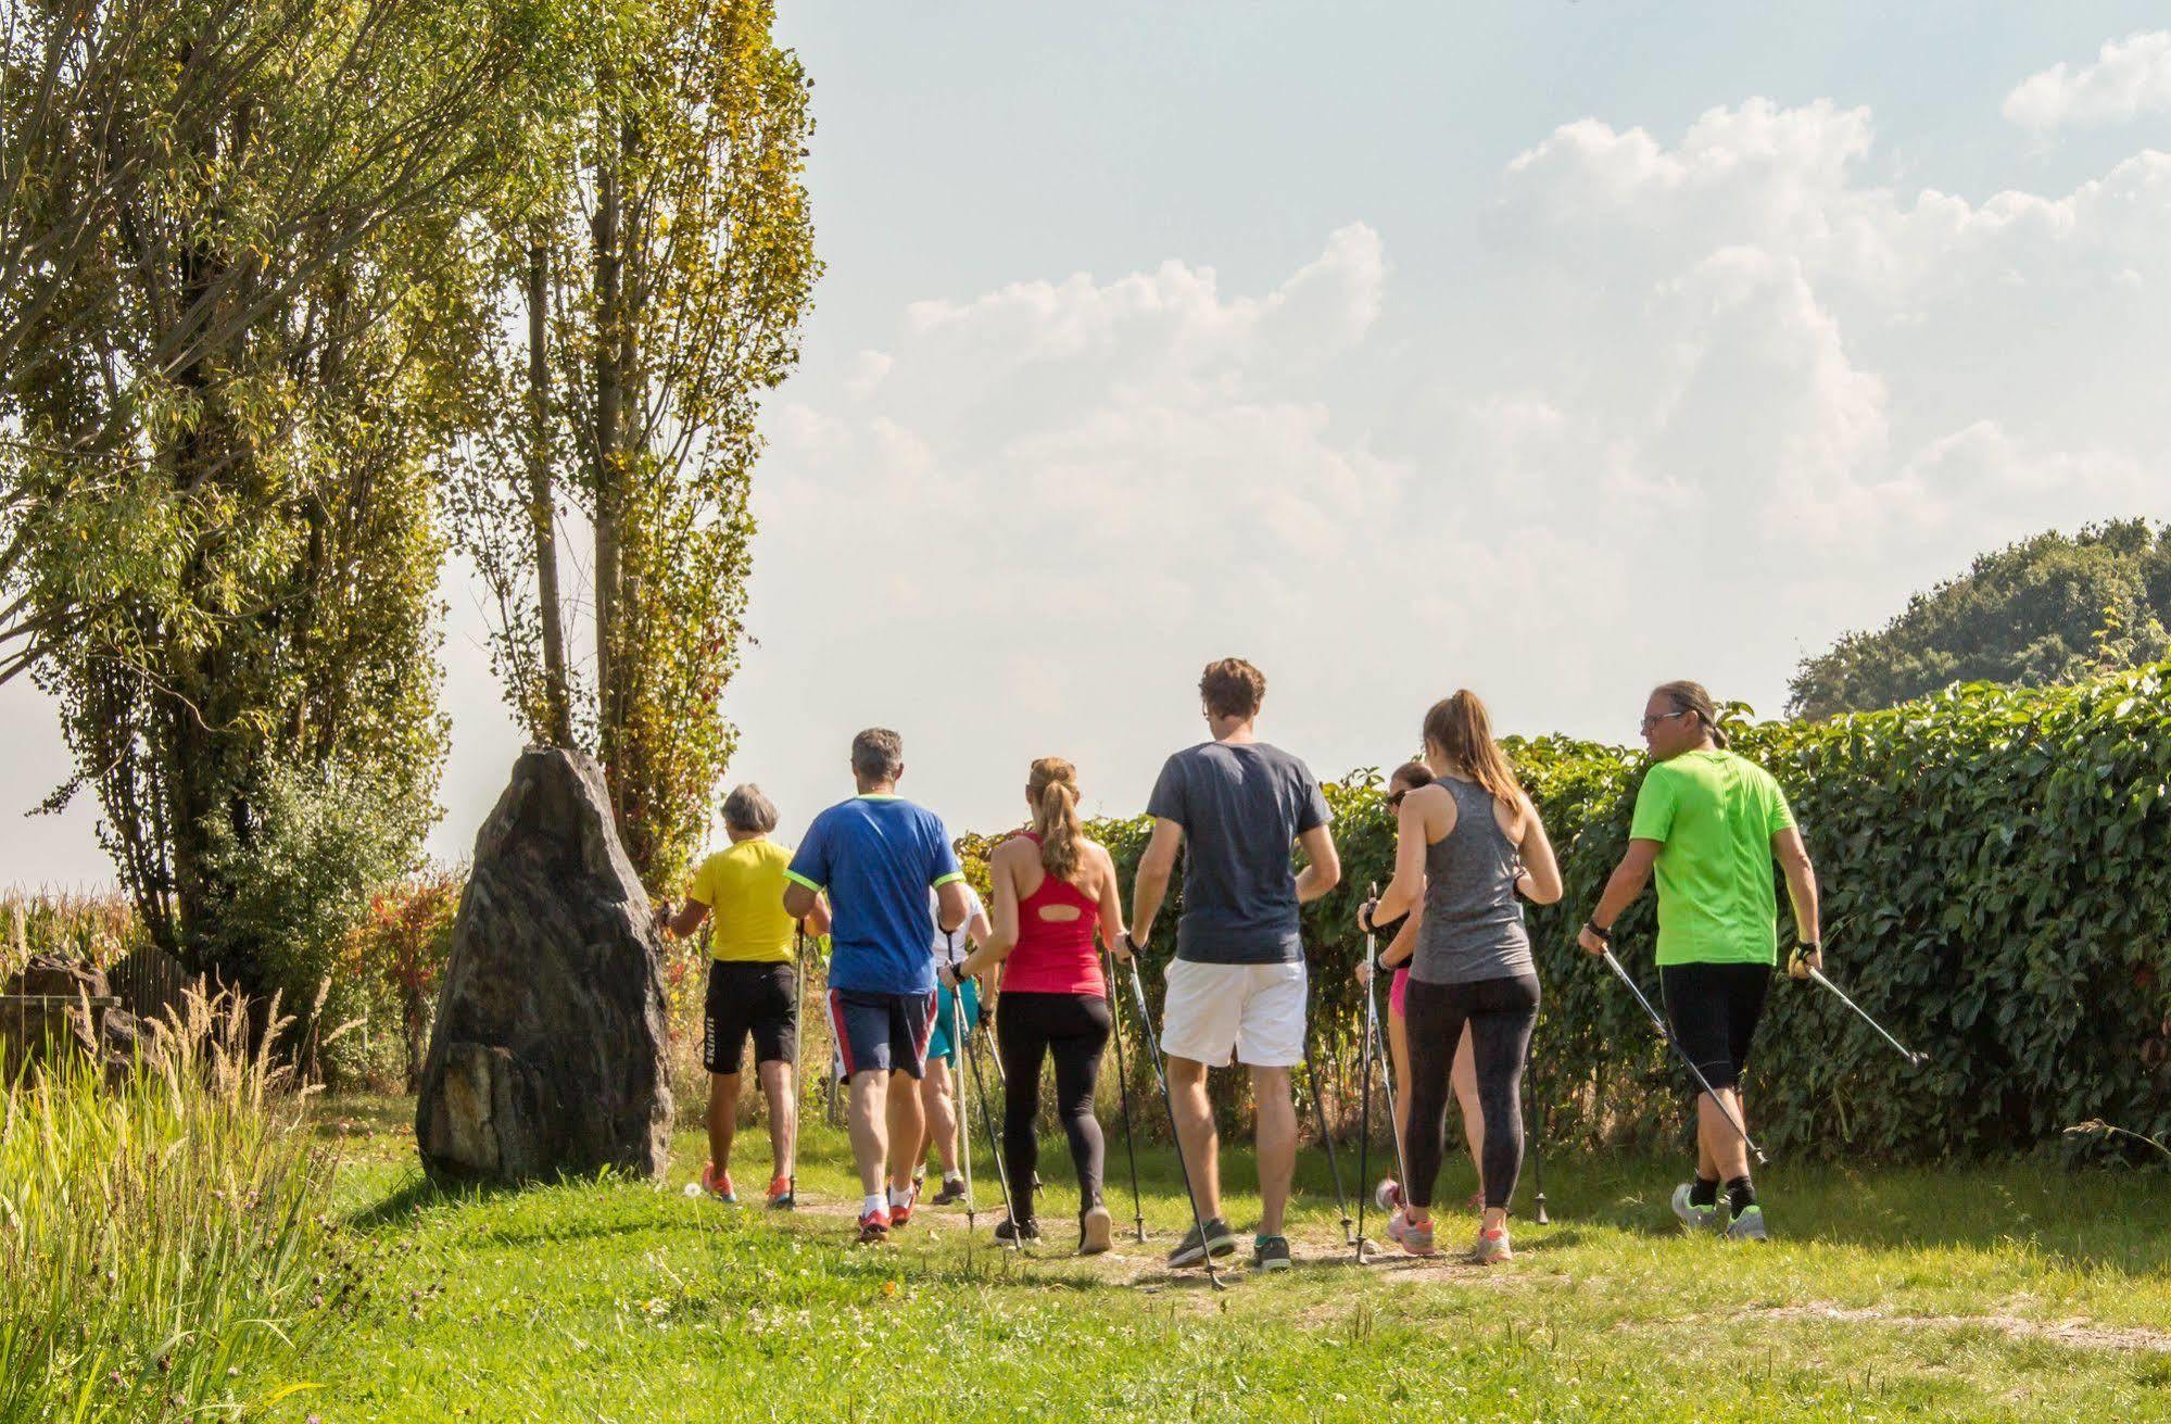
M 595 762 L 538 749 L 475 836 L 415 1105 L 439 1177 L 658 1177 L 669 1018 L 649 897 Z

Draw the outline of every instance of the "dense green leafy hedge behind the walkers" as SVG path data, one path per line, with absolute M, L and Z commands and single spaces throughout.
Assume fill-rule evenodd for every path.
M 1824 723 L 1730 723 L 1787 788 L 1826 892 L 1826 970 L 1913 1048 L 1908 1066 L 1834 999 L 1776 983 L 1748 1092 L 1774 1155 L 1937 1159 L 2058 1142 L 2091 1118 L 2171 1133 L 2171 664 L 2078 688 L 1965 686 Z M 1415 714 L 1413 714 L 1415 721 Z M 1643 758 L 1511 747 L 1567 897 L 1531 910 L 1546 1007 L 1535 1109 L 1548 1140 L 1674 1142 L 1687 1083 L 1626 992 L 1572 942 L 1626 847 Z M 1361 999 L 1355 907 L 1385 883 L 1379 773 L 1329 786 L 1342 886 L 1305 912 L 1322 1096 L 1344 1127 Z M 1096 823 L 1129 888 L 1146 821 Z M 966 838 L 968 855 L 983 849 Z M 1175 905 L 1170 907 L 1175 910 Z M 1782 942 L 1791 916 L 1780 894 Z M 1654 899 L 1620 923 L 1656 996 Z M 1175 914 L 1151 964 L 1172 951 Z M 1159 1012 L 1159 975 L 1148 975 Z M 1133 1077 L 1144 1066 L 1133 1055 Z M 1237 1075 L 1220 1085 L 1240 1109 Z M 1309 1118 L 1309 1105 L 1305 1107 Z M 1374 1116 L 1376 1120 L 1376 1116 Z M 2075 1142 L 2075 1140 L 2067 1140 Z

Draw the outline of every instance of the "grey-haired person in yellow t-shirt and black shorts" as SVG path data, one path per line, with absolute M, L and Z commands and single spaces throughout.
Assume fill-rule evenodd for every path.
M 658 920 L 680 938 L 714 916 L 701 1009 L 701 1066 L 708 1068 L 708 1166 L 701 1168 L 701 1187 L 719 1200 L 738 1200 L 732 1192 L 732 1137 L 738 1127 L 738 1064 L 751 1033 L 775 1159 L 769 1205 L 788 1211 L 792 1153 L 799 1146 L 799 1083 L 792 1075 L 799 1038 L 792 938 L 799 923 L 784 912 L 784 868 L 792 851 L 769 838 L 777 829 L 777 808 L 760 786 L 738 786 L 723 799 L 723 829 L 732 844 L 695 868 L 680 912 L 658 907 Z M 827 905 L 814 903 L 805 929 L 827 933 Z

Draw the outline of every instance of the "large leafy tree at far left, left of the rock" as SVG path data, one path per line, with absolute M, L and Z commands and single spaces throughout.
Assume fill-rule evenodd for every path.
M 137 176 L 0 369 L 54 803 L 98 792 L 158 944 L 313 988 L 432 818 L 434 460 L 493 319 L 467 215 L 549 35 L 510 0 L 178 0 L 119 37 L 130 7 L 63 9 L 119 96 L 69 141 Z M 198 48 L 247 63 L 176 89 Z

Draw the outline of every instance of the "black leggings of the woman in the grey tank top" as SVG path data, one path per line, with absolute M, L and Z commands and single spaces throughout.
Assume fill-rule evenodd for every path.
M 1537 977 L 1424 983 L 1405 990 L 1409 1027 L 1409 1205 L 1431 1207 L 1439 1159 L 1448 1142 L 1448 1103 L 1455 1098 L 1455 1046 L 1470 1025 L 1470 1055 L 1478 1070 L 1478 1109 L 1485 1116 L 1485 1205 L 1507 1207 L 1522 1174 L 1522 1061 L 1537 1025 Z

